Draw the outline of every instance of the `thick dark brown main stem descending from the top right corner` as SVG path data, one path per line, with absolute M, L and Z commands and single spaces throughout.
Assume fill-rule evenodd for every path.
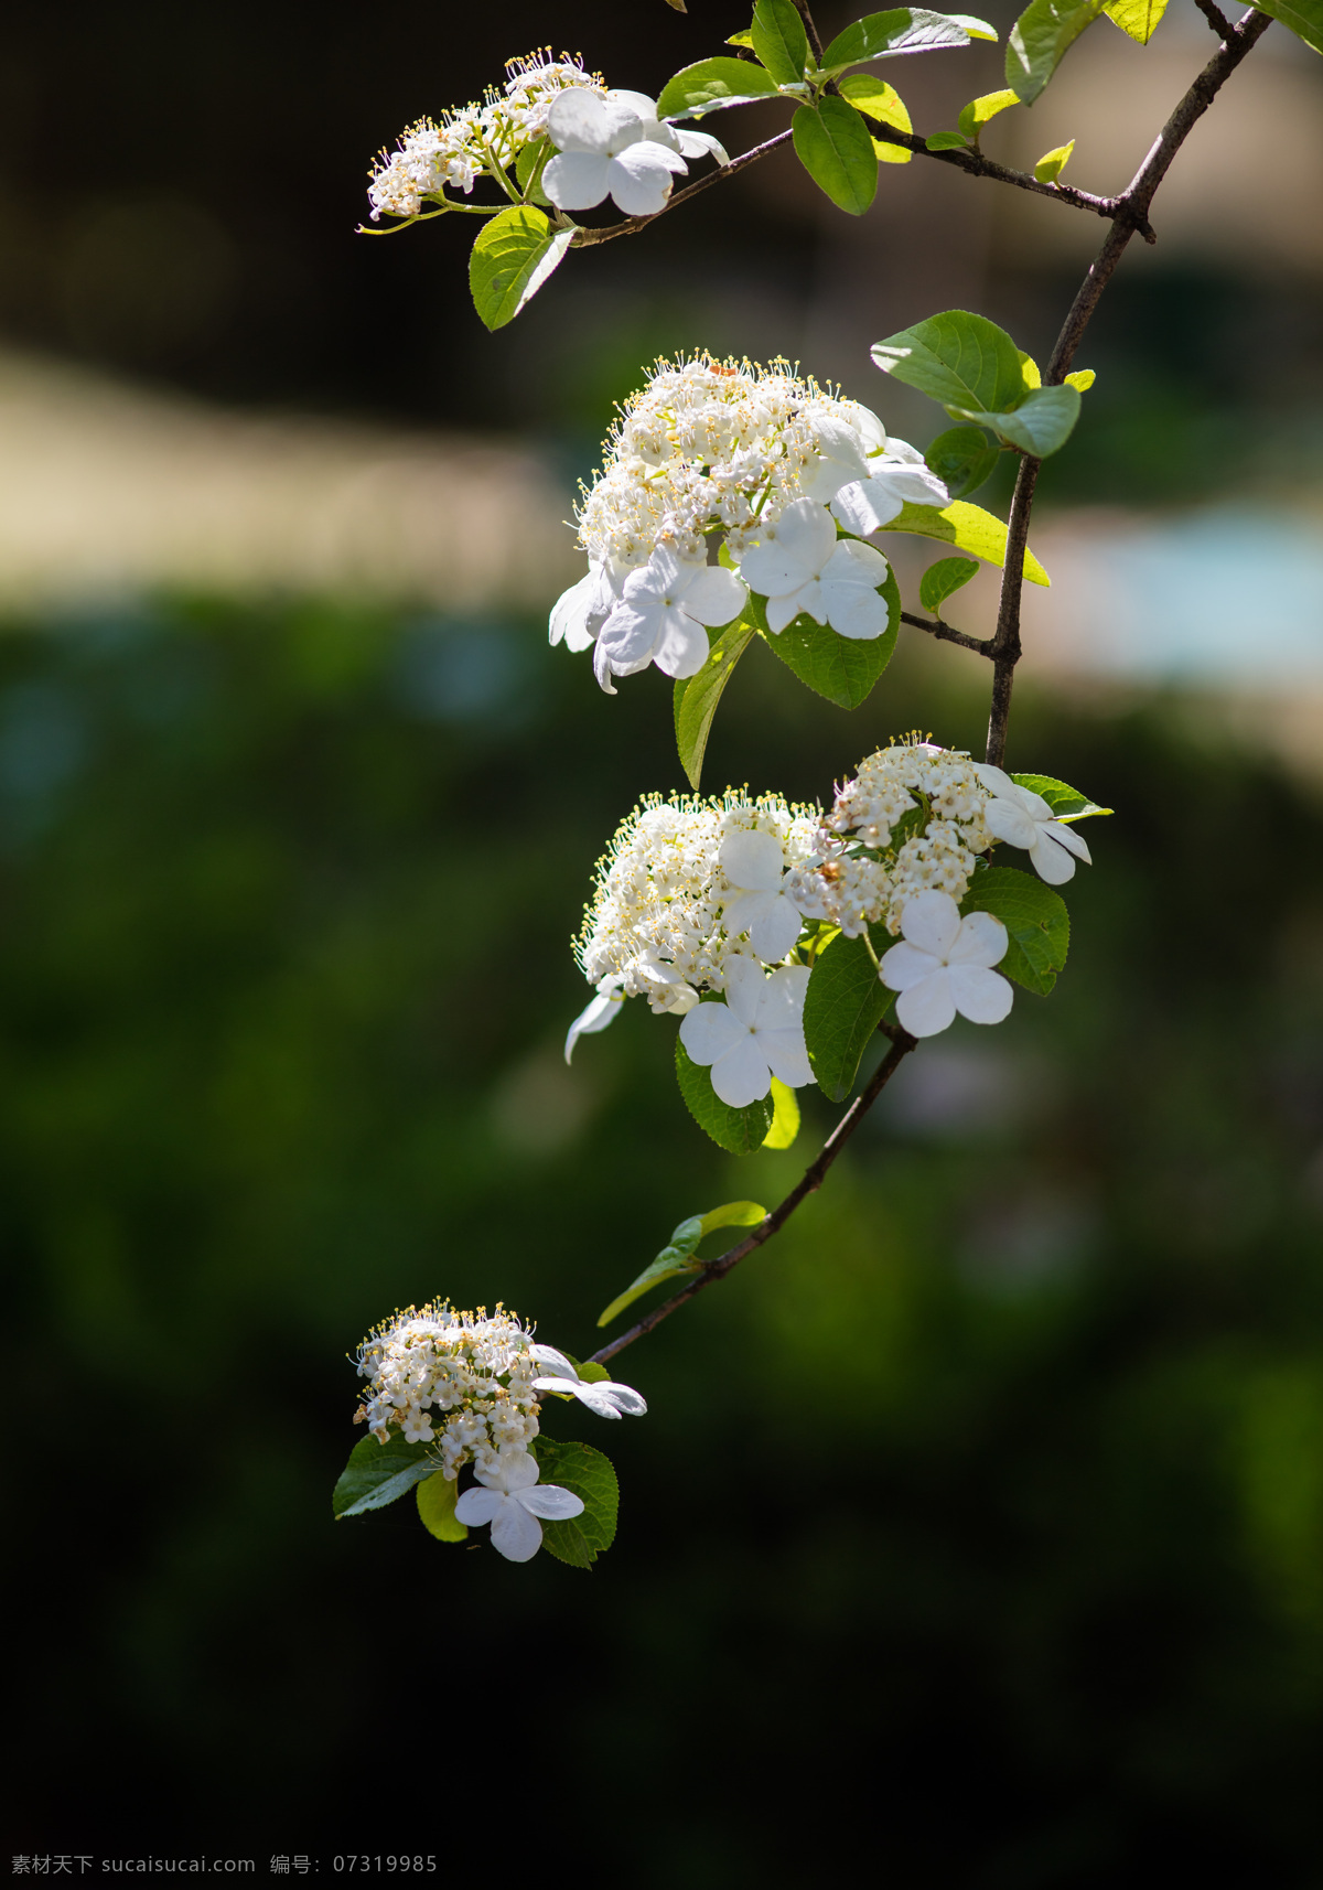
M 1266 13 L 1253 8 L 1234 26 L 1227 28 L 1227 40 L 1198 74 L 1185 93 L 1176 112 L 1153 140 L 1153 146 L 1117 198 L 1115 217 L 1102 249 L 1092 259 L 1089 274 L 1079 285 L 1079 293 L 1070 306 L 1070 314 L 1057 336 L 1053 357 L 1043 374 L 1043 386 L 1064 382 L 1075 350 L 1083 338 L 1089 319 L 1098 306 L 1102 291 L 1111 282 L 1117 263 L 1136 231 L 1147 225 L 1149 206 L 1162 178 L 1172 168 L 1176 153 L 1189 138 L 1194 125 L 1208 112 L 1210 104 L 1242 62 L 1246 53 L 1272 25 Z M 988 714 L 987 758 L 996 767 L 1005 760 L 1005 730 L 1011 716 L 1011 688 L 1015 684 L 1015 665 L 1021 660 L 1021 593 L 1024 590 L 1024 548 L 1028 544 L 1028 520 L 1034 508 L 1034 488 L 1041 461 L 1021 459 L 1011 499 L 1011 518 L 1005 535 L 1005 569 L 1002 576 L 1002 599 L 996 612 L 996 635 L 992 637 L 992 709 Z

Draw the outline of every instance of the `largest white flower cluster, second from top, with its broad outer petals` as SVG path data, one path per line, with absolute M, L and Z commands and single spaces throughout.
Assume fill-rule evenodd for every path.
M 748 590 L 771 631 L 807 614 L 843 637 L 881 637 L 888 567 L 860 537 L 905 505 L 947 497 L 877 414 L 784 359 L 660 359 L 582 493 L 590 569 L 552 610 L 550 639 L 571 650 L 595 643 L 597 680 L 610 690 L 612 677 L 652 662 L 696 675 L 705 629 L 733 622 Z M 730 569 L 707 563 L 722 537 Z

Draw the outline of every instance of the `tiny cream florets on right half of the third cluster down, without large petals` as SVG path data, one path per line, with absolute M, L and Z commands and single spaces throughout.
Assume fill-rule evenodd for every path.
M 975 856 L 994 845 L 979 765 L 919 739 L 860 762 L 822 820 L 816 858 L 790 875 L 799 911 L 858 937 L 879 922 L 900 932 L 905 903 L 920 892 L 960 902 Z

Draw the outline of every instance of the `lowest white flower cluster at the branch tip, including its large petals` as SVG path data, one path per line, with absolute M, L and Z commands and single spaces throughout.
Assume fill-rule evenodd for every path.
M 450 1300 L 408 1306 L 359 1346 L 369 1395 L 355 1412 L 378 1444 L 391 1427 L 406 1444 L 437 1444 L 437 1469 L 454 1482 L 472 1463 L 476 1486 L 455 1503 L 465 1525 L 491 1523 L 491 1546 L 507 1561 L 529 1561 L 542 1546 L 542 1521 L 580 1516 L 584 1503 L 559 1484 L 539 1484 L 529 1444 L 539 1435 L 539 1393 L 576 1397 L 599 1418 L 641 1418 L 644 1400 L 629 1385 L 582 1380 L 554 1346 L 497 1306 L 488 1315 L 455 1312 Z

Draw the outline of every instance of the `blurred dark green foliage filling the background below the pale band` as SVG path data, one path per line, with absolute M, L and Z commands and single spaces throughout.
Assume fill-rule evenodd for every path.
M 983 679 L 943 694 L 945 656 L 902 641 L 856 728 L 754 641 L 709 784 L 828 794 L 919 714 L 977 743 Z M 1310 1881 L 1319 813 L 1179 705 L 1045 716 L 1026 688 L 1009 765 L 1117 809 L 1068 888 L 1070 975 L 924 1045 L 775 1249 L 616 1363 L 646 1423 L 548 1418 L 620 1472 L 590 1584 L 438 1544 L 412 1501 L 333 1521 L 327 1489 L 374 1319 L 505 1298 L 582 1355 L 658 1228 L 779 1200 L 835 1117 L 803 1091 L 798 1149 L 726 1157 L 641 1004 L 561 1060 L 592 862 L 682 784 L 665 686 L 607 703 L 541 626 L 327 605 L 11 631 L 34 1833 L 372 1848 L 386 1769 L 399 1848 L 435 1848 L 410 1754 L 444 1758 L 446 1703 L 529 1688 L 558 1726 L 520 1750 L 524 1813 L 592 1752 L 633 1884 L 826 1881 L 864 1845 L 975 1890 Z M 499 1771 L 527 1729 L 493 1724 Z M 720 1792 L 679 1784 L 696 1743 Z

